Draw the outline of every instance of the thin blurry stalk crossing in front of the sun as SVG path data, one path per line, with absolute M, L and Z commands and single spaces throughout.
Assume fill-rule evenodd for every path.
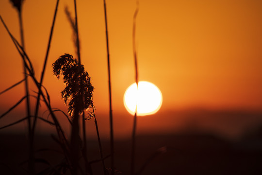
M 136 1 L 136 9 L 133 16 L 133 55 L 135 63 L 135 82 L 138 88 L 138 68 L 137 68 L 137 54 L 136 54 L 136 45 L 135 45 L 135 29 L 136 29 L 136 17 L 139 11 L 139 1 Z M 132 130 L 132 144 L 131 144 L 131 175 L 135 174 L 135 135 L 136 135 L 136 122 L 137 122 L 137 106 L 135 107 L 134 121 L 133 121 L 133 130 Z

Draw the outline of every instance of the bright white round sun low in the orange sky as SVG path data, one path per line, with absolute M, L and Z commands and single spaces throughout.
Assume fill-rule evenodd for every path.
M 124 105 L 127 111 L 134 115 L 145 116 L 156 113 L 162 105 L 162 93 L 154 84 L 139 81 L 138 86 L 133 83 L 127 88 L 124 95 Z

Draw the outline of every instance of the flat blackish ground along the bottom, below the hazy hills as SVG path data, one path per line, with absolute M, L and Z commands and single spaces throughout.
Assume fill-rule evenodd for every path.
M 24 135 L 0 135 L 1 175 L 26 174 L 27 142 Z M 262 139 L 258 138 L 232 142 L 210 134 L 180 133 L 138 136 L 136 143 L 136 170 L 148 163 L 141 175 L 262 174 Z M 109 142 L 103 140 L 102 144 L 104 155 L 109 155 Z M 48 167 L 43 159 L 51 165 L 63 159 L 61 149 L 50 136 L 36 136 L 36 148 L 38 171 Z M 39 151 L 44 148 L 56 151 Z M 99 159 L 97 140 L 88 141 L 88 156 L 89 161 Z M 116 140 L 115 169 L 122 175 L 129 175 L 130 159 L 131 140 Z M 110 158 L 106 159 L 106 166 L 110 167 Z M 92 164 L 92 168 L 94 175 L 102 175 L 100 162 Z

